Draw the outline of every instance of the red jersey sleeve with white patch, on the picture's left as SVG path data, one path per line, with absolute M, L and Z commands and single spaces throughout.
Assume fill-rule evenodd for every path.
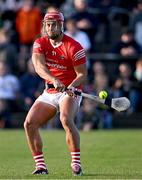
M 33 44 L 33 53 L 44 54 L 41 39 L 36 39 Z

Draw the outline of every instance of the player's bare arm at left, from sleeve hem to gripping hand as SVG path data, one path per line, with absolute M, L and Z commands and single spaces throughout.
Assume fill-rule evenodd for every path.
M 64 85 L 53 76 L 48 68 L 45 66 L 45 57 L 39 53 L 32 54 L 32 62 L 35 68 L 36 73 L 43 79 L 53 82 L 55 89 L 62 90 Z

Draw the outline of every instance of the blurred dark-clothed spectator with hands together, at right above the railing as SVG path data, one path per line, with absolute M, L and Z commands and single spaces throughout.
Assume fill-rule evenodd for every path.
M 140 55 L 142 50 L 134 40 L 133 32 L 131 30 L 124 30 L 120 41 L 113 46 L 111 52 L 123 57 L 129 57 Z

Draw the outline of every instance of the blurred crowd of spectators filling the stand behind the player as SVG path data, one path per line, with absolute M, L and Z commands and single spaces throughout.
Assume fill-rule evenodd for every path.
M 131 107 L 125 113 L 141 111 L 142 0 L 1 0 L 0 128 L 12 127 L 12 114 L 26 113 L 44 89 L 34 71 L 31 51 L 41 33 L 43 16 L 54 8 L 65 16 L 65 33 L 86 50 L 88 79 L 83 91 L 98 95 L 106 90 L 112 98 L 126 96 Z M 112 67 L 108 60 L 90 58 L 91 53 L 111 53 L 120 61 Z M 128 61 L 131 58 L 133 62 Z M 110 129 L 114 113 L 84 99 L 76 117 L 78 127 Z M 55 122 L 53 126 L 60 125 Z

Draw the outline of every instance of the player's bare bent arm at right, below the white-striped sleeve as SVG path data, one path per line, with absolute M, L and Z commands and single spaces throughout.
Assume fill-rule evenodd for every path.
M 74 70 L 77 76 L 68 87 L 77 87 L 82 85 L 86 81 L 87 78 L 86 64 L 80 64 L 78 66 L 74 66 Z

